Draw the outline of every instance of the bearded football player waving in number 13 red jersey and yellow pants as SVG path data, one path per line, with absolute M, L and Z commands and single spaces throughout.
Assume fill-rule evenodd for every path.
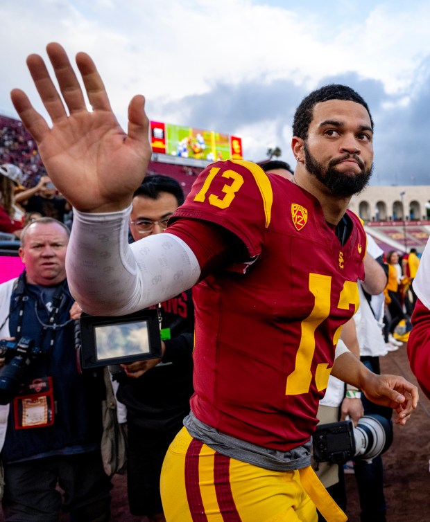
M 55 186 L 74 205 L 68 258 L 85 312 L 125 314 L 193 285 L 191 413 L 164 460 L 169 522 L 346 520 L 310 463 L 318 401 L 332 372 L 405 424 L 418 390 L 375 375 L 334 349 L 359 303 L 365 233 L 346 210 L 372 171 L 373 122 L 349 87 L 304 98 L 293 124 L 294 183 L 248 161 L 219 161 L 198 177 L 163 234 L 128 246 L 132 192 L 150 159 L 143 96 L 128 132 L 112 114 L 94 62 L 64 49 L 27 63 L 52 127 L 17 89 L 12 101 Z M 64 102 L 62 101 L 64 100 Z M 288 185 L 286 185 L 288 183 Z

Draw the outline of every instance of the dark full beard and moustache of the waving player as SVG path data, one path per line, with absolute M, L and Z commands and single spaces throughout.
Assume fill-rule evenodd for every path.
M 309 174 L 313 174 L 334 196 L 350 197 L 354 194 L 359 194 L 367 186 L 370 176 L 372 176 L 373 164 L 366 169 L 363 160 L 356 154 L 347 152 L 341 158 L 330 160 L 327 167 L 325 167 L 312 156 L 307 143 L 303 144 L 303 151 L 304 165 Z M 345 174 L 345 172 L 336 170 L 338 163 L 350 158 L 354 159 L 359 165 L 359 174 Z

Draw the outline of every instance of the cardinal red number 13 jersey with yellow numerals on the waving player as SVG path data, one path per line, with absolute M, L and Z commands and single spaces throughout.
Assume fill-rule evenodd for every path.
M 212 273 L 196 305 L 191 409 L 227 435 L 287 451 L 316 425 L 341 326 L 359 304 L 365 233 L 344 246 L 309 192 L 247 161 L 209 165 L 175 217 L 207 220 L 252 263 Z

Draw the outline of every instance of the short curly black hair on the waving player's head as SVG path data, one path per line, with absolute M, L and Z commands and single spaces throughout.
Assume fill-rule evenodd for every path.
M 303 98 L 302 102 L 297 109 L 295 109 L 294 120 L 293 120 L 293 136 L 298 138 L 306 139 L 309 131 L 309 125 L 313 118 L 313 107 L 317 103 L 327 102 L 329 100 L 345 100 L 349 102 L 356 102 L 368 111 L 370 123 L 373 130 L 373 120 L 368 104 L 361 98 L 359 93 L 341 84 L 329 84 L 316 91 L 312 91 L 306 98 Z

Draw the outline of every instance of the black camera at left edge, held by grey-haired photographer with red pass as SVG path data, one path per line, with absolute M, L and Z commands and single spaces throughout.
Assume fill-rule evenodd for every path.
M 26 368 L 40 353 L 40 348 L 28 337 L 22 337 L 17 343 L 0 339 L 0 357 L 6 359 L 0 368 L 0 404 L 8 404 L 18 395 Z

